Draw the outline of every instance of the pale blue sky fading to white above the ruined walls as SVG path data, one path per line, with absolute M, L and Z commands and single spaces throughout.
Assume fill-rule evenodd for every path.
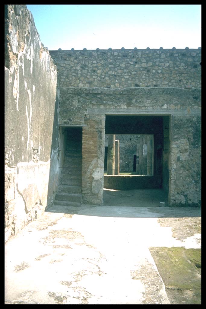
M 201 5 L 27 5 L 49 50 L 198 48 Z

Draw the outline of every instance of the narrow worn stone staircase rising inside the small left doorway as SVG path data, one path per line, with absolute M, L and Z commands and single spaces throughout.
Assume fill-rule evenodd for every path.
M 70 143 L 65 153 L 60 185 L 54 205 L 80 207 L 82 203 L 82 148 Z

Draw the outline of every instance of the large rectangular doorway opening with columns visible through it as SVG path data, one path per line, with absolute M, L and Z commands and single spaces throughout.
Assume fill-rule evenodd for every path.
M 129 170 L 125 170 L 121 159 L 121 141 L 120 141 L 120 175 L 108 171 L 108 160 L 111 160 L 109 144 L 105 143 L 104 171 L 109 175 L 104 175 L 104 188 L 107 189 L 137 189 L 137 188 L 163 188 L 167 193 L 169 191 L 169 124 L 170 116 L 111 116 L 106 115 L 105 134 L 107 137 L 115 135 L 113 140 L 117 140 L 117 136 L 127 138 L 128 153 L 131 152 L 131 162 Z M 130 137 L 129 137 L 130 135 Z M 137 143 L 133 151 L 132 138 L 142 139 Z M 131 140 L 130 140 L 131 138 Z M 148 139 L 148 141 L 147 141 Z M 107 138 L 105 139 L 107 140 Z M 135 152 L 134 152 L 135 151 Z M 133 153 L 132 153 L 133 152 Z M 148 155 L 149 154 L 149 155 Z M 137 157 L 134 157 L 137 156 Z M 122 161 L 121 161 L 122 160 Z M 134 162 L 136 162 L 136 171 Z M 114 159 L 113 159 L 114 161 Z M 106 166 L 107 163 L 107 166 Z M 111 163 L 111 162 L 110 162 Z M 140 164 L 141 163 L 141 164 Z M 115 164 L 113 162 L 113 164 Z M 122 169 L 122 167 L 123 169 Z M 110 174 L 111 173 L 111 174 Z M 112 175 L 112 176 L 110 176 Z

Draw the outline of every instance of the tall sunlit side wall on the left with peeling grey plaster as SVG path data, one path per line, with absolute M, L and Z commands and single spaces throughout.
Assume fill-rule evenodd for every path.
M 58 185 L 57 68 L 26 5 L 5 5 L 5 240 Z

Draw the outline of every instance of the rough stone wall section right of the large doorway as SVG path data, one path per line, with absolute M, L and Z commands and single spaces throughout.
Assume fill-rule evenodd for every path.
M 201 202 L 201 117 L 171 117 L 170 201 L 172 205 Z

